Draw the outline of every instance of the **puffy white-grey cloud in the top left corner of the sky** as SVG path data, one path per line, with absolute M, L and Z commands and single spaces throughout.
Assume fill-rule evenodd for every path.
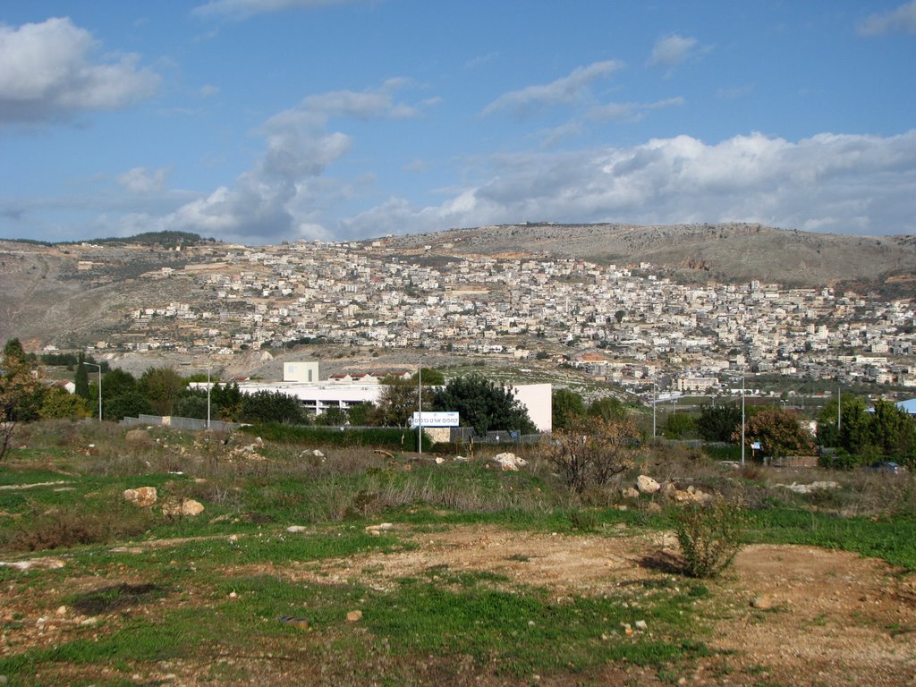
M 97 43 L 67 17 L 0 25 L 0 123 L 68 119 L 125 107 L 154 93 L 159 76 L 136 55 L 93 60 Z

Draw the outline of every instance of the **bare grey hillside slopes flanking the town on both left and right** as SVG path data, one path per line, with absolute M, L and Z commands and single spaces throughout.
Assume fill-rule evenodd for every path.
M 197 238 L 153 234 L 135 237 L 136 242 L 71 245 L 0 241 L 0 340 L 17 336 L 27 347 L 94 344 L 108 333 L 125 332 L 130 311 L 150 303 L 202 304 L 212 289 L 203 289 L 193 271 L 182 268 L 213 263 L 229 246 L 210 240 L 191 245 Z M 377 255 L 378 245 L 418 263 L 465 255 L 574 256 L 621 267 L 650 263 L 687 282 L 757 279 L 855 289 L 885 300 L 916 297 L 913 236 L 812 234 L 759 224 L 513 224 L 391 236 L 363 247 Z M 285 248 L 264 250 L 277 254 Z M 156 278 L 163 267 L 174 274 Z M 247 260 L 234 267 L 254 268 Z

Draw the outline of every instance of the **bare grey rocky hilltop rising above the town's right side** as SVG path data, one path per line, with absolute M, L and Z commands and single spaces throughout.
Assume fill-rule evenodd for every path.
M 916 275 L 916 236 L 814 234 L 761 224 L 507 224 L 399 236 L 389 245 L 428 254 L 649 262 L 691 280 L 855 285 L 898 295 L 912 294 Z

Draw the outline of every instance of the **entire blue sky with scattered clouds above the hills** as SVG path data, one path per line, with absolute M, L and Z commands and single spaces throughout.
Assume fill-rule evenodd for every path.
M 4 0 L 0 238 L 916 234 L 916 0 Z

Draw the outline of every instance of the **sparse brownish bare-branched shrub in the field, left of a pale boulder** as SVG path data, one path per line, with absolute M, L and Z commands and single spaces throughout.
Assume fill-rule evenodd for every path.
M 632 420 L 578 418 L 566 430 L 553 433 L 548 458 L 563 481 L 577 494 L 602 486 L 633 464 L 638 453 Z

